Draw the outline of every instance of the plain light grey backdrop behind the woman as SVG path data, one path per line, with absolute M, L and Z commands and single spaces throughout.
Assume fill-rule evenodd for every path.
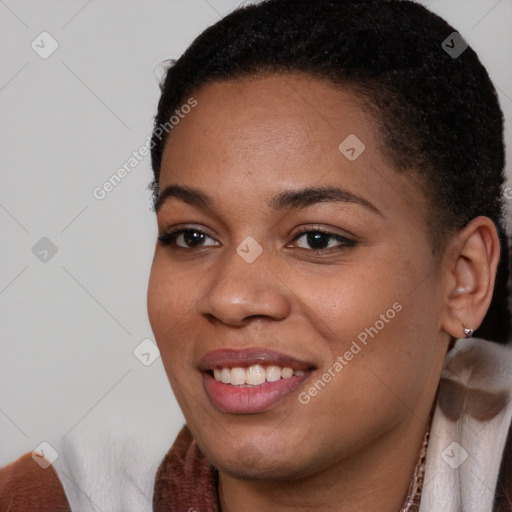
M 149 156 L 93 190 L 146 142 L 159 63 L 239 3 L 0 0 L 0 465 L 109 415 L 148 443 L 182 426 L 161 360 L 134 355 L 153 340 Z M 480 55 L 512 147 L 511 0 L 423 3 Z

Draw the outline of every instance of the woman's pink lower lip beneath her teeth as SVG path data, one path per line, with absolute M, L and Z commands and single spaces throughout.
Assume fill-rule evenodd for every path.
M 209 373 L 203 373 L 203 382 L 212 404 L 222 412 L 230 414 L 254 414 L 270 409 L 293 393 L 309 376 L 304 375 L 264 382 L 259 386 L 232 386 L 223 384 Z

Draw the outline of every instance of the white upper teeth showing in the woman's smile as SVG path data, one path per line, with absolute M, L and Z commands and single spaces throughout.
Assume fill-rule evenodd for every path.
M 301 376 L 304 373 L 303 370 L 294 370 L 289 366 L 282 368 L 270 365 L 265 369 L 261 364 L 254 364 L 248 368 L 215 368 L 213 370 L 216 381 L 233 386 L 243 386 L 244 384 L 259 386 L 265 381 L 275 382 L 280 379 L 289 379 L 292 376 Z

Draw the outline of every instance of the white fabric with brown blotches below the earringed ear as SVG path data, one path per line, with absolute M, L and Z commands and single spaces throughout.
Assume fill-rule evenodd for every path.
M 492 512 L 512 418 L 512 348 L 458 340 L 441 379 L 420 512 Z

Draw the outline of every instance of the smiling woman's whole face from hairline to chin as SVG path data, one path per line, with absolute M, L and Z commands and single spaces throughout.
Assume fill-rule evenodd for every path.
M 299 74 L 194 98 L 163 155 L 148 309 L 203 453 L 293 478 L 423 430 L 448 342 L 442 272 L 424 196 L 373 119 Z

